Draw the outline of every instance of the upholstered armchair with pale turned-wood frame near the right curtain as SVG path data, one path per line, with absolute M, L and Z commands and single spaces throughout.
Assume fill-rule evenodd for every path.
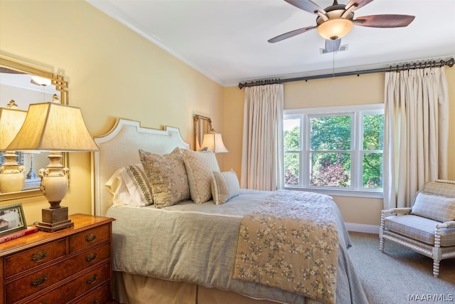
M 433 259 L 433 276 L 439 261 L 455 258 L 455 181 L 427 182 L 411 208 L 382 210 L 380 251 L 392 241 Z

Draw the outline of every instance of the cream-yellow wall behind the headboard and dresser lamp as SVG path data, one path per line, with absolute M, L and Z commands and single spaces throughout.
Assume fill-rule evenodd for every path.
M 194 114 L 210 117 L 223 133 L 222 86 L 85 1 L 0 1 L 0 53 L 65 75 L 69 103 L 81 108 L 92 136 L 123 117 L 178 127 L 192 145 Z M 218 161 L 223 167 L 223 155 Z M 62 205 L 90 214 L 90 153 L 70 154 L 70 171 Z M 42 196 L 18 201 L 28 224 L 48 206 Z

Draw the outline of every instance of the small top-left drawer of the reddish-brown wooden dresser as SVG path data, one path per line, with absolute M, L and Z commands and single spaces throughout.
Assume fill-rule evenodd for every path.
M 5 279 L 18 273 L 27 271 L 43 263 L 53 261 L 66 254 L 66 240 L 61 239 L 53 243 L 37 246 L 28 251 L 23 251 L 14 256 L 5 258 Z

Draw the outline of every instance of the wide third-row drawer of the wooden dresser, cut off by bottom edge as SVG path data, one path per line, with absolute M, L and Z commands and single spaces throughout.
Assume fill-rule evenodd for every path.
M 34 300 L 31 300 L 27 302 L 27 304 L 62 304 L 62 303 L 68 303 L 71 300 L 74 300 L 75 298 L 79 297 L 80 295 L 83 295 L 84 293 L 89 292 L 90 290 L 93 290 L 93 292 L 96 292 L 96 288 L 100 287 L 103 283 L 107 282 L 107 295 L 108 298 L 110 298 L 109 295 L 109 278 L 111 276 L 111 269 L 110 269 L 110 264 L 105 263 L 102 266 L 96 268 L 93 271 L 90 271 L 89 273 L 86 273 L 83 276 L 80 276 L 79 278 L 76 278 L 73 281 L 70 281 L 68 284 L 65 284 L 63 286 L 60 286 L 57 289 L 54 289 L 48 293 L 45 293 L 39 298 L 36 298 Z M 106 285 L 106 284 L 105 284 Z M 95 299 L 93 293 L 90 293 L 93 299 Z M 87 298 L 87 297 L 85 297 Z M 87 303 L 89 300 L 87 300 Z M 107 302 L 94 302 L 98 304 L 103 304 Z

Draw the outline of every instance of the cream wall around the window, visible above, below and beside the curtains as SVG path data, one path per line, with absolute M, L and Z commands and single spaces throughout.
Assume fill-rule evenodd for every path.
M 445 68 L 449 84 L 450 132 L 449 179 L 455 179 L 455 68 Z M 225 126 L 223 138 L 228 138 L 230 153 L 225 167 L 232 167 L 240 177 L 242 162 L 242 120 L 244 91 L 237 87 L 225 88 Z M 319 80 L 284 83 L 284 108 L 319 108 L 338 105 L 362 105 L 384 102 L 384 73 L 345 76 Z M 348 223 L 380 224 L 382 199 L 334 196 Z

